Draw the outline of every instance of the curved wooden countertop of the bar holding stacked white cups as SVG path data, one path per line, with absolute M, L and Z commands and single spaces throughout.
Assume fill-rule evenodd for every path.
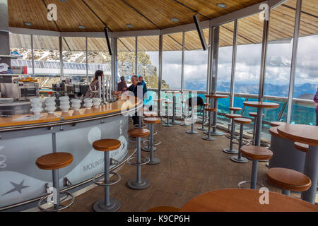
M 16 127 L 16 126 L 26 126 L 26 125 L 33 125 L 33 124 L 48 124 L 54 123 L 59 121 L 66 121 L 66 120 L 76 120 L 76 119 L 83 119 L 89 117 L 98 117 L 102 115 L 111 116 L 112 114 L 120 114 L 122 110 L 129 111 L 134 109 L 137 105 L 141 105 L 143 102 L 142 100 L 130 98 L 127 100 L 119 100 L 116 102 L 112 102 L 107 105 L 101 105 L 98 108 L 92 107 L 91 109 L 79 109 L 78 111 L 74 111 L 70 109 L 68 112 L 54 112 L 54 114 L 48 113 L 40 113 L 40 118 L 37 118 L 35 114 L 18 114 L 13 115 L 12 117 L 1 117 L 0 118 L 0 130 L 6 129 L 8 127 Z M 24 119 L 23 119 L 24 118 Z M 19 120 L 20 119 L 20 120 Z

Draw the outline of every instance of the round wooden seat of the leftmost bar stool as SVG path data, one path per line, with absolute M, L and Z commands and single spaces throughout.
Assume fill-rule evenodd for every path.
M 73 162 L 73 155 L 70 153 L 49 153 L 38 157 L 35 164 L 40 169 L 61 169 Z

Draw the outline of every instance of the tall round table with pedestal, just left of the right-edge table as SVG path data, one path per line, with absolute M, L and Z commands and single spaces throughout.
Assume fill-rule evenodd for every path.
M 278 108 L 279 105 L 276 103 L 271 102 L 258 102 L 258 101 L 245 101 L 243 102 L 243 105 L 248 107 L 257 107 L 257 119 L 255 121 L 256 123 L 256 130 L 255 130 L 255 146 L 259 146 L 261 144 L 261 119 L 262 117 L 259 117 L 263 114 L 263 108 Z

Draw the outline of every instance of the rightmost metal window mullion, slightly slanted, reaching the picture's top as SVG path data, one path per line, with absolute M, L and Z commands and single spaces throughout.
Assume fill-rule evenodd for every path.
M 293 38 L 293 52 L 290 65 L 290 80 L 288 90 L 288 105 L 287 105 L 287 123 L 290 123 L 293 105 L 294 85 L 295 85 L 295 73 L 297 64 L 297 53 L 298 53 L 298 37 L 300 30 L 300 16 L 302 9 L 302 0 L 297 0 L 296 16 L 295 16 L 295 27 L 294 27 L 294 38 Z

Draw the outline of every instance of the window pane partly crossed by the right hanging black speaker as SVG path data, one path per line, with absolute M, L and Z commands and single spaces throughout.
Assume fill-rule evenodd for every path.
M 204 29 L 204 37 L 208 43 L 208 29 Z M 202 49 L 196 30 L 184 34 L 184 89 L 206 90 L 208 72 L 208 49 Z

